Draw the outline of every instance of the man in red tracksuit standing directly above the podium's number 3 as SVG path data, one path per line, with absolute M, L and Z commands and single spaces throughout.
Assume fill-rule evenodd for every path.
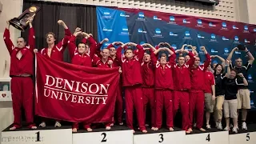
M 170 50 L 171 49 L 171 50 Z M 155 66 L 155 99 L 156 99 L 156 127 L 153 130 L 158 130 L 162 126 L 162 108 L 166 109 L 166 126 L 170 131 L 173 131 L 173 94 L 171 90 L 174 90 L 173 83 L 173 70 L 176 54 L 174 54 L 173 48 L 159 48 L 151 54 L 152 62 Z M 161 57 L 160 61 L 157 61 L 155 54 L 158 54 L 160 50 L 167 50 L 170 54 L 169 62 L 166 57 Z

